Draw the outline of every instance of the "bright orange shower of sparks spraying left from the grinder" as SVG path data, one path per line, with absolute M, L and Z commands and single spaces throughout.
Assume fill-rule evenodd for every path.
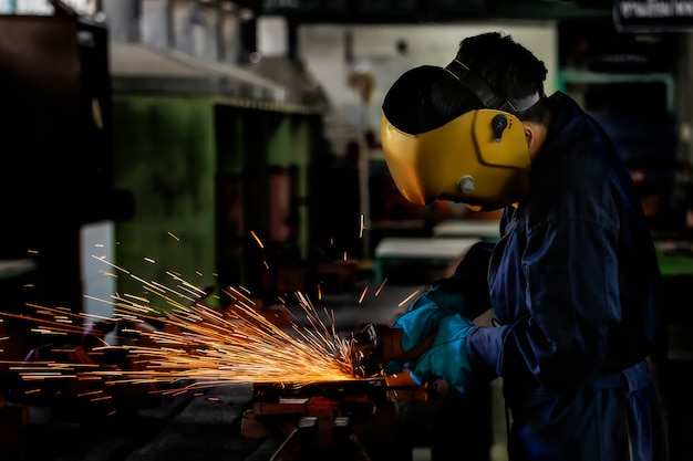
M 81 347 L 85 348 L 84 338 L 89 338 L 89 348 L 82 350 L 82 360 L 24 360 L 10 363 L 10 369 L 24 381 L 76 377 L 107 379 L 114 385 L 186 383 L 185 389 L 241 383 L 300 386 L 358 379 L 350 352 L 335 332 L 333 314 L 327 308 L 316 310 L 303 294 L 297 293 L 302 307 L 300 314 L 282 305 L 292 321 L 290 328 L 281 328 L 262 315 L 242 289 L 225 289 L 235 302 L 228 308 L 214 308 L 203 302 L 207 292 L 176 274 L 168 275 L 173 286 L 130 274 L 143 283 L 151 296 L 163 301 L 166 310 L 155 307 L 152 300 L 142 296 L 116 294 L 113 300 L 97 300 L 113 305 L 112 317 L 39 305 L 29 305 L 33 308 L 30 316 L 0 313 L 0 319 L 4 316 L 32 322 L 33 331 L 46 337 L 82 334 L 83 324 L 93 324 L 92 332 L 97 332 L 99 325 L 121 326 L 117 339 L 112 340 L 116 344 L 110 344 L 104 334 L 83 336 Z M 126 355 L 132 369 L 100 366 L 100 358 L 108 352 Z

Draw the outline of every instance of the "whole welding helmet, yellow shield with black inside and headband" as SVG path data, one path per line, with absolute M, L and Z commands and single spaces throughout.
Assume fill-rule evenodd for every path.
M 422 94 L 434 82 L 451 77 L 480 104 L 427 129 L 420 119 L 426 111 Z M 422 206 L 442 199 L 488 211 L 517 202 L 527 193 L 530 159 L 516 114 L 539 97 L 513 102 L 498 97 L 457 60 L 446 67 L 405 72 L 387 92 L 381 116 L 385 161 L 397 189 Z

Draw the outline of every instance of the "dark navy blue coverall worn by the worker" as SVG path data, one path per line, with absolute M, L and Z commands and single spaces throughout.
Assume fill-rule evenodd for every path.
M 510 461 L 664 461 L 650 230 L 602 128 L 560 92 L 549 104 L 529 193 L 504 210 L 490 259 L 500 326 L 475 328 L 467 354 L 504 379 Z

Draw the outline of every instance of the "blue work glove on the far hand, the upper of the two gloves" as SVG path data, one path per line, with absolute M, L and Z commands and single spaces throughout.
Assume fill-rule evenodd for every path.
M 410 305 L 407 312 L 392 324 L 393 328 L 403 329 L 402 350 L 415 349 L 438 328 L 438 323 L 444 316 L 461 313 L 463 307 L 462 293 L 451 293 L 439 285 L 422 294 Z

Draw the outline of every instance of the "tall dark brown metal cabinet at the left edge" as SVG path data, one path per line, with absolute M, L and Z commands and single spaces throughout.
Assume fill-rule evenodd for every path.
M 106 50 L 100 24 L 0 14 L 0 260 L 31 260 L 32 301 L 74 312 L 81 227 L 126 214 L 112 184 Z

